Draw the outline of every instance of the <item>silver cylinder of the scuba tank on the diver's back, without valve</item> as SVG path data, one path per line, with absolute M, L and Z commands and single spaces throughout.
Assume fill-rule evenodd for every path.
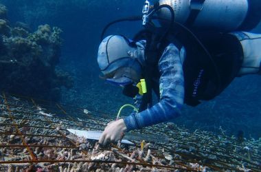
M 188 28 L 230 32 L 250 31 L 261 19 L 260 0 L 159 0 L 159 6 L 174 10 L 174 21 Z M 170 10 L 159 10 L 158 16 L 170 19 Z M 261 30 L 258 30 L 261 32 Z

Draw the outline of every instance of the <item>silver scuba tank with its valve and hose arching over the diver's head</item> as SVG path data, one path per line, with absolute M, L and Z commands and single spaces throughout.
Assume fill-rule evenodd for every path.
M 112 21 L 102 31 L 101 41 L 106 30 L 115 23 L 141 20 L 142 25 L 148 28 L 153 19 L 157 19 L 163 27 L 179 23 L 193 30 L 253 30 L 258 34 L 261 33 L 260 9 L 260 0 L 146 0 L 142 17 L 126 17 Z

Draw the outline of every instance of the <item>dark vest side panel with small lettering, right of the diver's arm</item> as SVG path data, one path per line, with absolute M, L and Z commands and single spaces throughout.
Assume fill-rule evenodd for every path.
M 174 36 L 184 45 L 183 63 L 185 103 L 196 106 L 199 100 L 210 100 L 219 93 L 220 76 L 216 63 L 197 36 L 183 25 L 174 23 Z

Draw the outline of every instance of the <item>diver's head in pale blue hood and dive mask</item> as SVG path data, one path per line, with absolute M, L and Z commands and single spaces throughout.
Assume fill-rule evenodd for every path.
M 98 50 L 98 64 L 106 80 L 114 85 L 137 83 L 141 65 L 135 56 L 137 46 L 124 36 L 107 36 Z

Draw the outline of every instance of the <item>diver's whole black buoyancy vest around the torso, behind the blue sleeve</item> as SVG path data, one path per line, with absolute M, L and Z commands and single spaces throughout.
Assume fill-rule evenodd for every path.
M 183 74 L 184 102 L 187 105 L 196 106 L 200 104 L 200 100 L 211 100 L 220 94 L 236 77 L 241 67 L 242 47 L 235 36 L 220 33 L 211 33 L 210 36 L 198 33 L 195 36 L 188 33 L 190 30 L 182 28 L 182 25 L 176 23 L 173 27 L 172 31 L 175 32 L 169 32 L 165 39 L 161 39 L 160 34 L 165 28 L 146 33 L 144 77 L 147 80 L 148 93 L 144 95 L 139 111 L 148 108 L 148 104 L 152 103 L 152 89 L 159 96 L 159 83 L 155 82 L 155 78 L 159 79 L 157 64 L 170 43 L 174 43 L 179 49 L 184 46 L 186 50 Z

